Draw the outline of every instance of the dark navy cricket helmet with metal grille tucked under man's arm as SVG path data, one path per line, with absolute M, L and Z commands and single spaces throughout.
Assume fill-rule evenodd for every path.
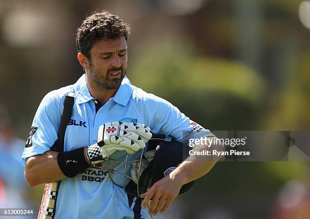
M 140 152 L 141 151 L 141 152 Z M 145 149 L 140 150 L 138 159 L 130 159 L 126 155 L 124 160 L 108 159 L 108 176 L 111 181 L 124 188 L 126 193 L 140 197 L 155 182 L 169 175 L 186 158 L 183 155 L 183 144 L 174 140 L 171 136 L 153 134 Z M 187 154 L 188 155 L 188 154 Z M 110 168 L 110 162 L 121 162 L 125 168 L 123 172 Z M 114 181 L 114 175 L 123 175 L 122 185 Z M 188 191 L 195 181 L 191 181 L 181 187 L 179 194 Z

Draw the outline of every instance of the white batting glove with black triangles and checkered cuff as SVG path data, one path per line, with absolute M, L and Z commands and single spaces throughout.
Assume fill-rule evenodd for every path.
M 87 157 L 95 165 L 115 151 L 134 154 L 145 148 L 151 137 L 150 129 L 143 124 L 107 122 L 99 127 L 97 143 L 87 148 Z

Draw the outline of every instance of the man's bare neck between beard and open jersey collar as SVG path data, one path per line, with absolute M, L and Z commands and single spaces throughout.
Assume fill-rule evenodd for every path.
M 90 79 L 88 74 L 86 74 L 86 86 L 92 95 L 92 97 L 99 100 L 102 104 L 105 104 L 111 97 L 113 97 L 118 89 L 102 90 L 97 87 L 97 85 Z

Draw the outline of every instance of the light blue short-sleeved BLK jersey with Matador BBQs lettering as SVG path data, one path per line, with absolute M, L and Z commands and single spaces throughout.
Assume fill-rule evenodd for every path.
M 177 107 L 131 85 L 126 77 L 115 96 L 96 113 L 97 100 L 89 93 L 83 75 L 74 85 L 51 91 L 43 98 L 34 116 L 22 155 L 23 165 L 26 158 L 49 151 L 57 140 L 66 95 L 73 96 L 75 102 L 66 129 L 64 151 L 96 143 L 99 126 L 112 121 L 145 124 L 153 133 L 171 135 L 177 141 L 183 140 L 183 131 L 202 129 Z M 209 130 L 203 130 L 199 135 L 212 134 Z M 115 152 L 112 158 L 122 160 L 125 156 L 125 152 Z M 131 155 L 130 159 L 136 159 L 138 156 Z M 88 168 L 72 178 L 63 179 L 59 188 L 55 218 L 151 218 L 147 214 L 147 208 L 141 209 L 141 202 L 113 184 L 106 175 L 106 167 L 107 161 L 103 161 L 96 168 Z M 122 163 L 113 166 L 118 172 L 123 172 L 124 168 Z M 119 185 L 123 184 L 123 176 L 120 174 L 115 174 L 113 180 Z

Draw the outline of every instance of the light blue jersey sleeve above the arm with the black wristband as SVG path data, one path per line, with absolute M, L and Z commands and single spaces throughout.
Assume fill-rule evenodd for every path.
M 57 140 L 60 124 L 60 99 L 55 91 L 48 93 L 35 113 L 21 163 L 25 165 L 27 158 L 49 151 Z

